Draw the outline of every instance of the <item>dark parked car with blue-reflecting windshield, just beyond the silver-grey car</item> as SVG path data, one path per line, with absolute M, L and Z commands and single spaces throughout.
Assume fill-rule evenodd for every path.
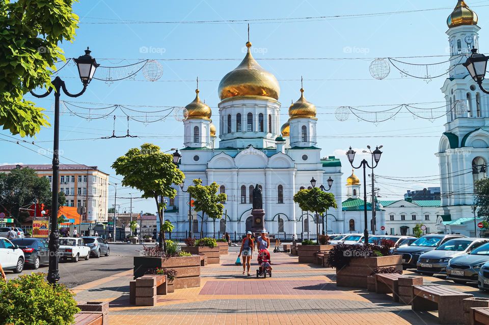
M 427 234 L 418 238 L 409 246 L 394 249 L 394 254 L 402 255 L 402 267 L 404 269 L 416 269 L 418 258 L 421 254 L 432 251 L 451 239 L 466 237 L 458 234 Z

